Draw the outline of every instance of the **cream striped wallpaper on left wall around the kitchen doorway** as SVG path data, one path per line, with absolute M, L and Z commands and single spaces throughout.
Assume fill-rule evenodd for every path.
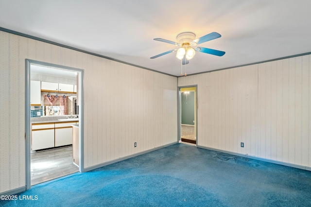
M 25 59 L 84 69 L 85 168 L 177 141 L 176 77 L 0 31 L 0 193 L 25 186 Z

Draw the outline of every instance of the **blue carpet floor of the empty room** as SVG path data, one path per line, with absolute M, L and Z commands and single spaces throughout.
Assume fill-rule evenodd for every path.
M 17 196 L 0 206 L 307 207 L 311 172 L 180 143 Z

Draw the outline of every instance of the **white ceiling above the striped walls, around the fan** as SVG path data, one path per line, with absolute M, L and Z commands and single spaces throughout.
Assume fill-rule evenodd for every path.
M 310 0 L 0 0 L 0 27 L 140 67 L 180 75 L 182 32 L 221 38 L 200 44 L 187 74 L 311 52 Z

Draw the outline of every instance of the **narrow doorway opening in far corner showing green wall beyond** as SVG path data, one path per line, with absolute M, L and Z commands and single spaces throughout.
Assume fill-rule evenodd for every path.
M 178 88 L 178 140 L 197 145 L 197 86 Z

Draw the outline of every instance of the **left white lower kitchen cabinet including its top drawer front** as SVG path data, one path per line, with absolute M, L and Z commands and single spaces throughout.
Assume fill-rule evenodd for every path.
M 32 150 L 54 147 L 54 123 L 32 124 Z

